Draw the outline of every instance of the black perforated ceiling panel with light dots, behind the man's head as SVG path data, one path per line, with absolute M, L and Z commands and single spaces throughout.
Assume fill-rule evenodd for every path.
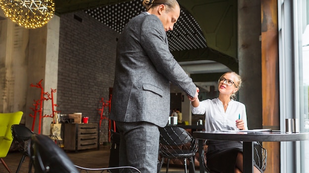
M 96 20 L 121 32 L 134 16 L 145 11 L 143 0 L 132 0 L 85 10 Z M 170 51 L 206 48 L 202 31 L 192 15 L 181 8 L 181 14 L 172 31 L 167 32 Z

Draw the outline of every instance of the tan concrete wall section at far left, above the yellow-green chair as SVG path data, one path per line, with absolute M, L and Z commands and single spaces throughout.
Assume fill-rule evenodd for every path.
M 29 31 L 6 19 L 3 13 L 0 16 L 0 112 L 24 112 Z M 21 123 L 25 116 L 24 112 Z

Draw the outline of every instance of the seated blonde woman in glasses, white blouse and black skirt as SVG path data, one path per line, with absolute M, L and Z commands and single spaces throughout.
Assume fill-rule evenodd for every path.
M 193 114 L 205 115 L 205 130 L 248 130 L 246 107 L 235 101 L 241 77 L 227 72 L 218 80 L 219 97 L 191 102 Z M 242 142 L 207 141 L 207 168 L 211 173 L 242 173 Z M 255 165 L 254 173 L 262 173 Z

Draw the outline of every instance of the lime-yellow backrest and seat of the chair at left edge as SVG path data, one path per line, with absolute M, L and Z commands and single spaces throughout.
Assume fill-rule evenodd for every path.
M 12 144 L 11 126 L 19 124 L 23 112 L 0 113 L 0 158 L 6 157 L 7 152 Z

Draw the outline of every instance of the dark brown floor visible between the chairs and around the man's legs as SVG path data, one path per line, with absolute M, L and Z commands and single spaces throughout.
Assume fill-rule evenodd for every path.
M 81 150 L 78 152 L 75 151 L 67 151 L 66 154 L 72 160 L 75 165 L 81 167 L 88 168 L 106 168 L 109 165 L 109 157 L 110 157 L 110 146 L 100 146 L 99 150 L 96 149 L 88 149 Z M 12 173 L 15 173 L 19 164 L 19 161 L 22 157 L 22 154 L 18 151 L 9 152 L 3 160 L 11 169 Z M 19 173 L 28 173 L 29 166 L 29 157 L 26 157 L 25 161 L 22 164 L 22 167 Z M 199 173 L 198 168 L 195 168 L 195 173 Z M 166 167 L 162 167 L 160 173 L 165 173 Z M 34 173 L 34 170 L 32 171 Z M 4 166 L 0 163 L 0 173 L 8 173 Z M 86 173 L 82 171 L 82 173 Z M 91 171 L 89 173 L 101 173 L 101 171 Z M 107 173 L 106 171 L 103 173 Z M 185 173 L 183 167 L 178 166 L 170 166 L 169 173 Z M 188 170 L 189 173 L 189 170 Z

